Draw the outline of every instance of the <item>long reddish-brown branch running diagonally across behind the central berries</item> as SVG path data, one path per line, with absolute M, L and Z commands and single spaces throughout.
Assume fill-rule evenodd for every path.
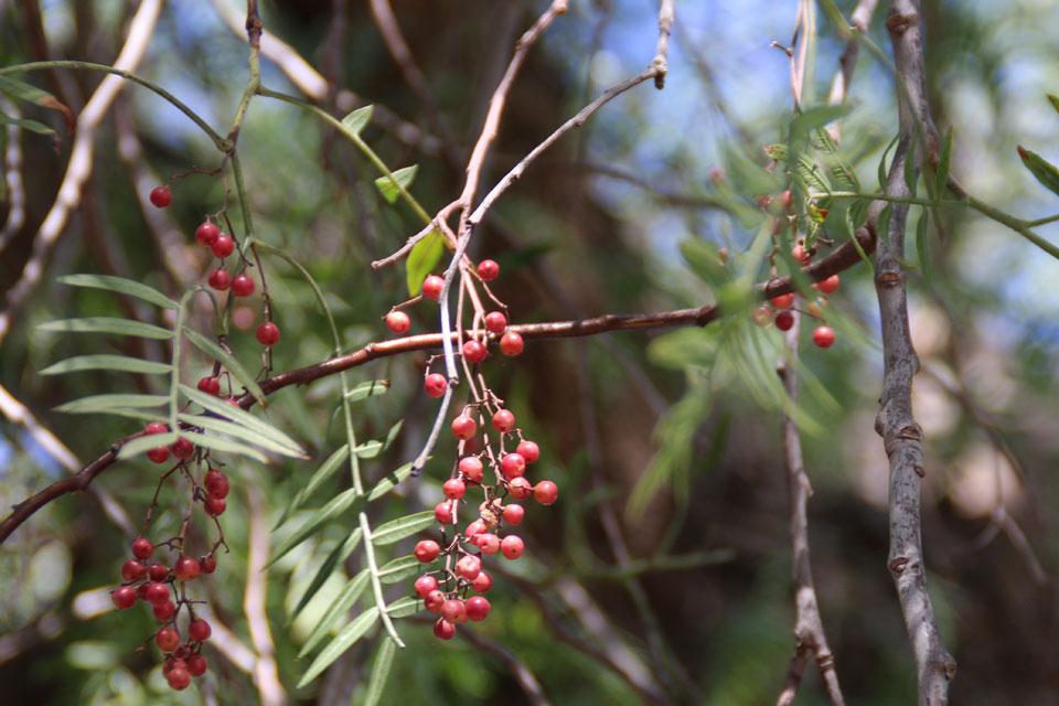
M 862 228 L 857 232 L 857 240 L 866 253 L 871 253 L 875 249 L 875 237 L 867 228 Z M 821 281 L 832 275 L 848 269 L 859 261 L 860 256 L 853 247 L 853 243 L 845 243 L 827 257 L 804 268 L 802 272 L 813 281 Z M 790 277 L 779 277 L 758 286 L 758 291 L 762 299 L 779 297 L 793 290 L 794 287 Z M 716 320 L 719 315 L 720 311 L 716 304 L 706 304 L 698 309 L 677 309 L 675 311 L 663 311 L 659 313 L 603 314 L 595 319 L 581 319 L 578 321 L 524 323 L 509 327 L 509 329 L 511 331 L 517 331 L 525 340 L 543 341 L 548 339 L 576 339 L 613 331 L 646 331 L 651 329 L 689 325 L 704 327 Z M 456 331 L 451 332 L 449 334 L 450 340 L 454 341 L 459 333 L 460 332 Z M 410 353 L 411 351 L 438 349 L 441 346 L 442 338 L 440 333 L 424 333 L 403 339 L 393 339 L 391 341 L 368 343 L 352 353 L 274 375 L 261 381 L 260 387 L 266 395 L 269 395 L 290 385 L 308 385 L 321 377 L 328 377 L 329 375 L 364 365 L 370 361 L 381 357 L 400 355 L 403 353 Z M 254 397 L 249 394 L 244 394 L 239 398 L 239 405 L 243 408 L 249 408 L 254 405 Z M 110 446 L 110 449 L 106 453 L 81 469 L 72 478 L 53 483 L 15 505 L 11 514 L 0 522 L 0 544 L 3 544 L 19 525 L 51 501 L 67 493 L 83 491 L 87 488 L 96 475 L 117 460 L 118 451 L 122 446 L 141 436 L 143 436 L 142 431 L 125 437 L 124 439 L 118 439 Z

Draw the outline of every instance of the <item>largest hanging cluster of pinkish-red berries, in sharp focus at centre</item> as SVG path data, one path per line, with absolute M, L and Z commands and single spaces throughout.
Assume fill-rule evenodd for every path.
M 473 271 L 489 298 L 506 310 L 485 285 L 500 274 L 496 263 L 482 260 Z M 440 277 L 427 277 L 422 298 L 437 301 L 442 286 Z M 485 570 L 485 557 L 501 554 L 514 560 L 522 556 L 525 543 L 512 528 L 522 522 L 525 509 L 513 501 L 533 496 L 541 504 L 550 505 L 559 494 L 554 482 L 542 480 L 534 484 L 526 477 L 527 468 L 541 457 L 541 449 L 523 437 L 515 415 L 504 408 L 503 400 L 489 389 L 478 371 L 478 365 L 489 356 L 491 343 L 495 342 L 504 355 L 518 355 L 523 350 L 522 336 L 509 329 L 504 311 L 485 313 L 477 293 L 471 295 L 471 300 L 473 322 L 470 331 L 460 333 L 458 353 L 471 399 L 450 427 L 459 446 L 451 475 L 441 486 L 445 500 L 434 510 L 441 525 L 440 542 L 424 539 L 415 548 L 419 561 L 436 565 L 419 576 L 415 591 L 429 612 L 440 616 L 434 634 L 442 640 L 456 634 L 457 624 L 481 621 L 489 616 L 490 603 L 483 593 L 492 588 L 493 578 Z M 386 325 L 395 333 L 405 333 L 410 321 L 405 312 L 395 309 L 386 315 Z M 464 333 L 467 340 L 462 341 Z M 440 356 L 434 360 L 437 357 Z M 431 373 L 427 365 L 424 381 L 427 395 L 443 396 L 448 384 L 443 374 Z M 467 513 L 462 522 L 470 522 L 460 530 L 462 513 Z

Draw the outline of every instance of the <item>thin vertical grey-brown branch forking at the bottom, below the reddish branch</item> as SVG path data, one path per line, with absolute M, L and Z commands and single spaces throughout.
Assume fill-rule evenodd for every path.
M 780 367 L 783 387 L 794 404 L 798 400 L 798 341 L 801 329 L 801 314 L 794 313 L 794 325 L 784 334 L 787 360 Z M 798 618 L 794 623 L 796 640 L 794 656 L 787 673 L 783 691 L 775 699 L 777 706 L 790 706 L 794 703 L 802 672 L 809 656 L 815 655 L 820 674 L 827 687 L 832 706 L 844 706 L 838 674 L 835 672 L 835 659 L 827 646 L 824 623 L 820 617 L 816 600 L 816 587 L 813 584 L 813 567 L 809 555 L 809 499 L 813 494 L 809 474 L 802 459 L 802 440 L 798 434 L 798 424 L 789 414 L 783 415 L 783 464 L 787 470 L 787 492 L 791 505 L 791 556 L 794 576 L 794 603 Z

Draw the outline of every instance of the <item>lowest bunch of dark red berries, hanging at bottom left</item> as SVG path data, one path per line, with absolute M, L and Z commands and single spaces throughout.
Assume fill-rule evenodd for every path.
M 200 574 L 213 574 L 217 568 L 217 560 L 213 553 L 200 557 L 197 560 L 190 556 L 181 556 L 169 568 L 164 564 L 151 561 L 154 555 L 154 545 L 149 539 L 140 537 L 132 543 L 132 556 L 121 565 L 124 584 L 114 590 L 110 599 L 121 610 L 127 610 L 142 601 L 151 607 L 156 620 L 162 623 L 154 633 L 154 644 L 165 653 L 162 674 L 169 685 L 183 691 L 191 684 L 191 677 L 206 673 L 206 660 L 202 655 L 202 643 L 213 630 L 210 623 L 195 617 L 192 601 L 184 597 L 185 586 Z M 176 581 L 181 582 L 180 589 Z M 188 640 L 183 641 L 176 625 L 176 618 L 181 609 L 186 608 Z

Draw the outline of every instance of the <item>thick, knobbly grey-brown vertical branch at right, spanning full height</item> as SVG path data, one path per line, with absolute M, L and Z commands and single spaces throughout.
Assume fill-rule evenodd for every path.
M 912 138 L 917 127 L 922 125 L 928 135 L 926 147 L 930 153 L 930 133 L 933 131 L 927 104 L 918 0 L 895 0 L 886 26 L 890 31 L 895 63 L 903 83 L 903 90 L 898 89 L 901 136 L 887 178 L 886 193 L 908 196 L 905 162 L 916 160 L 911 149 Z M 880 207 L 878 202 L 873 205 L 873 208 Z M 905 255 L 908 208 L 908 204 L 894 204 L 889 233 L 882 234 L 882 237 L 889 238 L 889 247 L 879 248 L 878 253 L 875 287 L 879 299 L 885 371 L 875 429 L 882 437 L 889 458 L 888 566 L 916 656 L 919 704 L 943 706 L 949 703 L 949 682 L 955 674 L 956 663 L 941 642 L 927 591 L 923 563 L 920 516 L 920 492 L 926 472 L 923 432 L 912 416 L 912 377 L 919 371 L 919 357 L 909 332 L 906 274 L 900 265 L 900 258 Z

